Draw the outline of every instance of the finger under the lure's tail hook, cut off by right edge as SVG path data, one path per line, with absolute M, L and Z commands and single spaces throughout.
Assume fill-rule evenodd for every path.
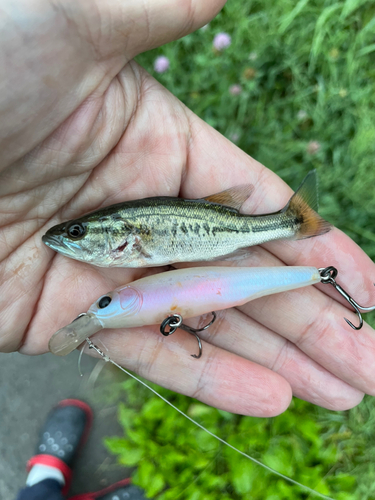
M 354 314 L 315 287 L 263 297 L 239 309 L 351 386 L 375 395 L 374 330 L 366 323 L 352 330 L 344 316 L 355 321 Z

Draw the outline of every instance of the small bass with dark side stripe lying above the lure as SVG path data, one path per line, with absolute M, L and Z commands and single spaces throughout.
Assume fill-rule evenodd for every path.
M 99 267 L 151 267 L 216 260 L 279 239 L 324 234 L 331 225 L 318 209 L 315 171 L 279 212 L 245 215 L 252 186 L 197 200 L 155 197 L 127 201 L 52 227 L 43 242 Z

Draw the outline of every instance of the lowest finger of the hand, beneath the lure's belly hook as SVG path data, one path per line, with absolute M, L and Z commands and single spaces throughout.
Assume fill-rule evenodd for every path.
M 289 406 L 291 389 L 280 375 L 205 342 L 204 356 L 194 359 L 196 340 L 186 332 L 163 337 L 155 327 L 132 328 L 99 333 L 94 343 L 98 339 L 120 365 L 216 408 L 270 417 Z

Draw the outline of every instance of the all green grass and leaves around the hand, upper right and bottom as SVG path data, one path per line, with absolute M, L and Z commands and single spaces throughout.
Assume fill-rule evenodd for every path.
M 212 40 L 222 31 L 232 44 L 215 52 Z M 374 33 L 370 1 L 230 0 L 206 30 L 138 61 L 293 187 L 316 168 L 322 215 L 374 258 Z M 158 55 L 171 62 L 161 75 L 153 70 Z M 240 95 L 229 93 L 233 84 L 241 85 Z M 313 141 L 317 151 L 311 150 Z M 107 444 L 120 463 L 137 465 L 135 481 L 150 496 L 312 498 L 223 448 L 133 382 L 125 389 L 127 405 L 119 411 L 124 437 Z M 297 481 L 338 500 L 375 498 L 373 398 L 348 412 L 295 400 L 283 415 L 262 420 L 162 393 L 210 430 Z

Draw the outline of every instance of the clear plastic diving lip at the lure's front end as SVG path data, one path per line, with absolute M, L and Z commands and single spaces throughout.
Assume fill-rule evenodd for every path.
M 87 337 L 102 330 L 103 326 L 93 314 L 83 313 L 69 325 L 60 328 L 49 340 L 52 354 L 66 356 L 76 349 Z

